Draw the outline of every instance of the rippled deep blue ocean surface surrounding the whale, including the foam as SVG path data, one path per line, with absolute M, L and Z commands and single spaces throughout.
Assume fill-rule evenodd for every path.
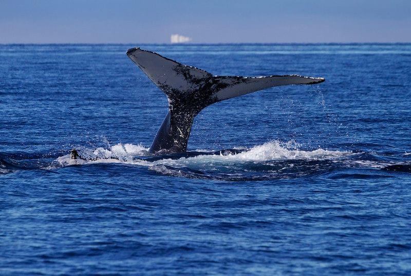
M 209 106 L 153 156 L 135 46 L 326 82 Z M 0 274 L 409 275 L 410 72 L 411 44 L 0 45 Z

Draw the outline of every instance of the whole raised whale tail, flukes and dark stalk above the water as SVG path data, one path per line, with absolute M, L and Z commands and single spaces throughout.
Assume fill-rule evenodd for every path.
M 140 48 L 129 49 L 127 55 L 169 99 L 169 113 L 150 147 L 152 153 L 184 152 L 194 117 L 211 104 L 273 86 L 325 81 L 299 75 L 213 76 Z

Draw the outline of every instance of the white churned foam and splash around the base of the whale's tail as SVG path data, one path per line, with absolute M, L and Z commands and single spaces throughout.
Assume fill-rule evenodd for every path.
M 271 141 L 252 147 L 244 152 L 237 154 L 203 154 L 194 157 L 181 157 L 180 159 L 161 159 L 154 162 L 136 159 L 136 156 L 148 154 L 148 148 L 141 145 L 117 144 L 110 149 L 97 148 L 94 151 L 89 149 L 80 149 L 80 155 L 86 160 L 70 158 L 70 154 L 58 157 L 56 162 L 59 166 L 83 165 L 96 163 L 126 163 L 140 166 L 156 166 L 153 170 L 164 170 L 165 167 L 159 165 L 168 165 L 172 167 L 189 167 L 194 169 L 213 169 L 215 166 L 229 166 L 230 164 L 255 163 L 276 160 L 329 160 L 351 154 L 348 151 L 332 151 L 318 148 L 312 151 L 300 150 L 299 144 L 294 141 L 281 142 Z M 199 152 L 210 152 L 205 150 L 196 150 Z

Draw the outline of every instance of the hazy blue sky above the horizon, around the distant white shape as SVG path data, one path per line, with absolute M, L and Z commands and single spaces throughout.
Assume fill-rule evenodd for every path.
M 411 42 L 409 0 L 0 0 L 0 43 Z

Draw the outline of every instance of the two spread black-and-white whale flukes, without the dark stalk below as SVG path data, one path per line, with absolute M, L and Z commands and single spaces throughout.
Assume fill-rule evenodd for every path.
M 213 76 L 207 71 L 140 48 L 129 49 L 127 55 L 171 101 L 200 97 L 212 104 L 274 86 L 319 84 L 325 81 L 322 77 L 300 75 Z

